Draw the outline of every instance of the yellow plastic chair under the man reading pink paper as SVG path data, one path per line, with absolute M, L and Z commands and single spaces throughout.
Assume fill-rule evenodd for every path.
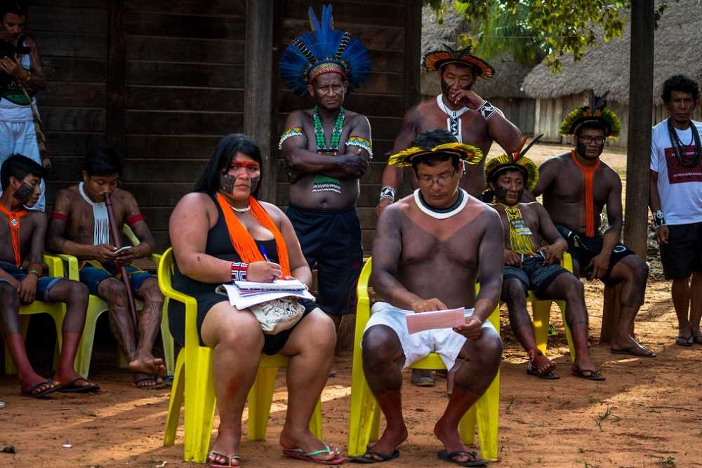
M 349 418 L 349 445 L 350 456 L 363 455 L 371 441 L 378 440 L 380 410 L 378 402 L 371 392 L 366 376 L 363 372 L 363 359 L 361 356 L 361 340 L 363 338 L 366 322 L 370 319 L 370 298 L 368 295 L 368 281 L 371 276 L 371 258 L 366 260 L 361 275 L 359 276 L 356 309 L 356 333 L 354 337 L 354 353 L 351 380 L 351 414 Z M 500 329 L 500 309 L 497 307 L 489 316 L 490 323 Z M 444 361 L 439 354 L 430 353 L 423 359 L 413 363 L 413 369 L 444 369 Z M 498 424 L 500 414 L 500 372 L 492 381 L 486 392 L 471 406 L 461 419 L 458 431 L 461 440 L 467 445 L 472 445 L 475 440 L 475 424 L 477 422 L 480 439 L 480 449 L 485 460 L 497 460 Z

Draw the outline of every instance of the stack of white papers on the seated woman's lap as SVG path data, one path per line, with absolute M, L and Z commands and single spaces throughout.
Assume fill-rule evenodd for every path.
M 218 286 L 217 292 L 229 296 L 229 302 L 239 310 L 282 297 L 304 297 L 314 300 L 307 286 L 298 279 L 277 279 L 272 283 L 235 281 Z

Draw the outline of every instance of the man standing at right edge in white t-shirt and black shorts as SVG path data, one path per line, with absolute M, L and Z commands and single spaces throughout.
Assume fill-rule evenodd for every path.
M 675 75 L 663 83 L 670 116 L 651 133 L 651 211 L 677 314 L 675 344 L 702 345 L 702 122 L 691 119 L 697 83 Z

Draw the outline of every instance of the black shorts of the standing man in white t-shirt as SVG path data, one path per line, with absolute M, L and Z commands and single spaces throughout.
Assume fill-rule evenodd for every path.
M 665 279 L 689 278 L 702 272 L 702 222 L 669 225 L 668 243 L 661 245 Z

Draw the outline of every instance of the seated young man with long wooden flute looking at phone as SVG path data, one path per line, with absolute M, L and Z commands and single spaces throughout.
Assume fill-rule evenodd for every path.
M 88 153 L 84 160 L 83 182 L 56 194 L 46 248 L 81 260 L 80 279 L 88 285 L 91 294 L 107 301 L 112 335 L 128 361 L 134 384 L 150 388 L 162 385 L 161 376 L 166 372 L 163 360 L 155 359 L 152 354 L 161 325 L 164 296 L 155 276 L 130 265 L 133 260 L 151 255 L 156 241 L 134 196 L 118 187 L 121 171 L 119 155 L 113 149 L 97 148 Z M 117 226 L 126 222 L 139 239 L 138 246 L 119 251 L 114 247 L 105 193 L 110 193 Z M 119 264 L 129 265 L 132 291 L 144 301 L 138 330 L 134 330 L 124 283 L 117 278 Z

